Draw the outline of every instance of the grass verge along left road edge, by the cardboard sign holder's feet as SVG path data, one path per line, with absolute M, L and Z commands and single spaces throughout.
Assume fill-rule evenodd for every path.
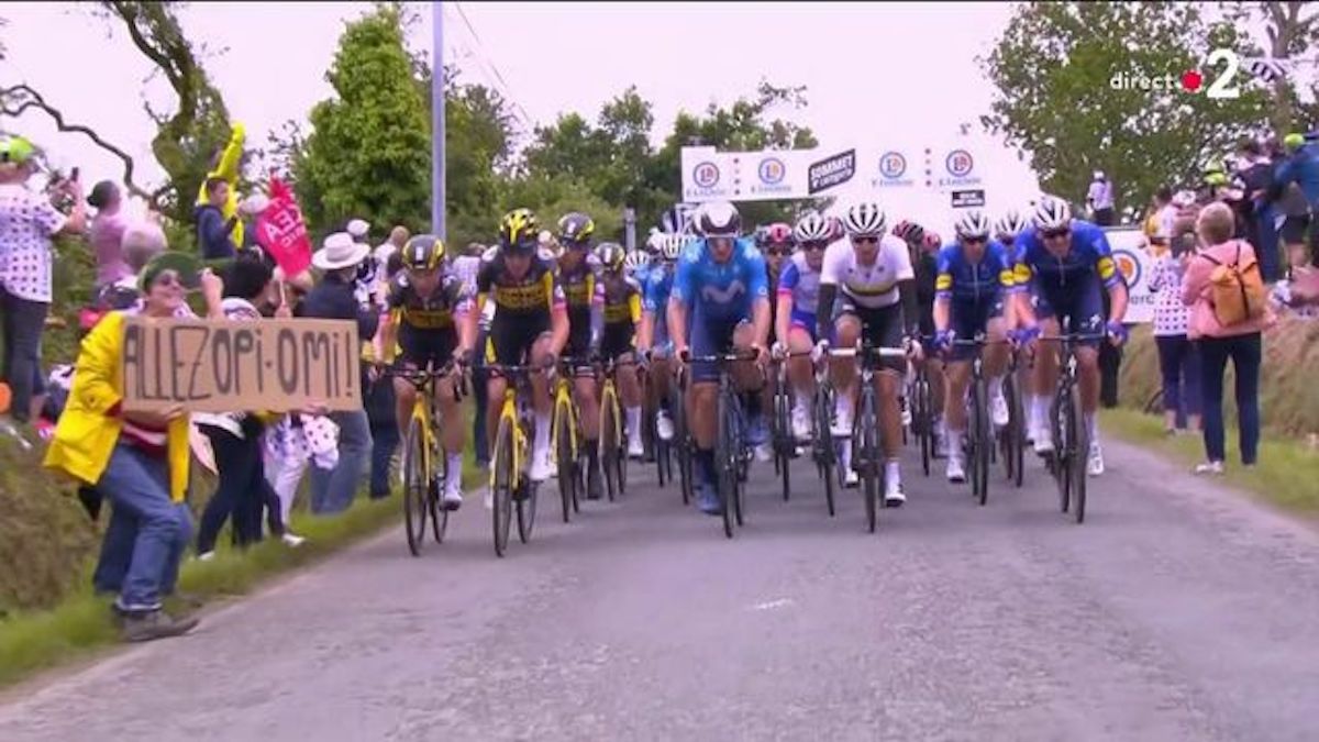
M 472 491 L 475 485 L 483 483 L 484 477 L 487 473 L 476 469 L 468 453 L 463 466 L 467 490 Z M 222 537 L 212 561 L 185 557 L 178 589 L 199 598 L 203 605 L 247 594 L 272 577 L 315 562 L 397 524 L 402 514 L 401 499 L 398 492 L 381 500 L 359 496 L 352 507 L 335 516 L 294 514 L 291 529 L 307 539 L 298 548 L 266 539 L 253 548 L 237 551 Z M 472 496 L 468 495 L 468 499 Z M 406 558 L 406 547 L 400 544 L 398 548 L 400 558 Z M 90 584 L 90 578 L 83 580 L 82 590 L 67 595 L 51 610 L 17 613 L 0 621 L 0 688 L 15 685 L 44 669 L 88 659 L 119 643 L 119 632 L 111 619 L 111 599 L 94 595 Z

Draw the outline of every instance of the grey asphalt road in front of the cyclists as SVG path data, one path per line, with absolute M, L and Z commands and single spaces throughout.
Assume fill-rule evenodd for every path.
M 504 560 L 470 502 L 422 558 L 388 533 L 11 700 L 0 739 L 1319 738 L 1315 532 L 1108 458 L 1080 527 L 1034 463 L 980 508 L 909 462 L 876 535 L 768 466 L 732 541 L 650 469 Z

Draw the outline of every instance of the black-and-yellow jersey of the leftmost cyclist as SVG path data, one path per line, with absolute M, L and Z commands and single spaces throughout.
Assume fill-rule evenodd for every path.
M 448 362 L 458 345 L 456 322 L 472 308 L 471 293 L 452 273 L 443 276 L 429 296 L 421 296 L 406 272 L 398 273 L 388 284 L 385 302 L 398 327 L 404 362 L 418 367 Z

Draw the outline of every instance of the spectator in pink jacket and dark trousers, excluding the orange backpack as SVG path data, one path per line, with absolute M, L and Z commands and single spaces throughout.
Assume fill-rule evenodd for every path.
M 1223 430 L 1223 376 L 1228 359 L 1236 371 L 1237 425 L 1241 437 L 1241 463 L 1254 466 L 1260 446 L 1260 360 L 1264 330 L 1275 321 L 1265 305 L 1257 318 L 1224 326 L 1212 304 L 1212 275 L 1220 265 L 1249 265 L 1254 248 L 1232 239 L 1232 210 L 1211 203 L 1200 211 L 1196 234 L 1204 248 L 1191 259 L 1182 280 L 1182 301 L 1191 308 L 1187 337 L 1200 351 L 1200 391 L 1204 409 L 1206 462 L 1196 474 L 1221 474 L 1227 458 Z

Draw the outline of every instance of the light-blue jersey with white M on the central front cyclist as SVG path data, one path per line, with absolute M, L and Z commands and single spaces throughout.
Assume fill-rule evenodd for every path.
M 752 304 L 769 298 L 765 257 L 740 238 L 728 261 L 715 263 L 706 240 L 694 242 L 678 259 L 673 297 L 707 320 L 749 320 Z

